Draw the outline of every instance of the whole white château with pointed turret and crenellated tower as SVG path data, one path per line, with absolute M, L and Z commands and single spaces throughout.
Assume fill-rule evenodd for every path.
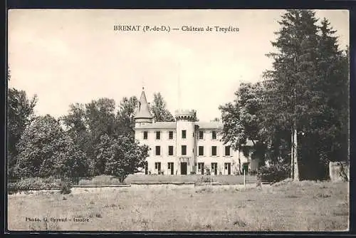
M 142 88 L 135 114 L 135 139 L 150 147 L 145 174 L 236 175 L 257 170 L 246 145 L 235 151 L 219 135 L 222 123 L 197 121 L 195 110 L 176 110 L 174 122 L 155 122 Z

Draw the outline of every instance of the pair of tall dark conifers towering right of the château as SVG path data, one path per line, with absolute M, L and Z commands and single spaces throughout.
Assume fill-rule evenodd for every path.
M 281 30 L 272 42 L 278 53 L 268 54 L 273 70 L 265 72 L 263 82 L 265 128 L 291 128 L 291 155 L 298 154 L 291 161 L 295 179 L 298 167 L 303 178 L 325 178 L 330 157 L 336 151 L 340 155 L 340 150 L 345 154 L 345 147 L 337 145 L 347 145 L 348 59 L 338 50 L 328 21 L 321 26 L 317 21 L 307 10 L 288 10 L 282 16 Z M 288 141 L 285 133 L 280 135 L 276 145 Z

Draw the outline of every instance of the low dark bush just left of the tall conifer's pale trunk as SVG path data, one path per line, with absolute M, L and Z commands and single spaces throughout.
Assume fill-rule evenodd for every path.
M 258 180 L 263 182 L 279 182 L 290 177 L 290 165 L 270 165 L 258 169 Z

